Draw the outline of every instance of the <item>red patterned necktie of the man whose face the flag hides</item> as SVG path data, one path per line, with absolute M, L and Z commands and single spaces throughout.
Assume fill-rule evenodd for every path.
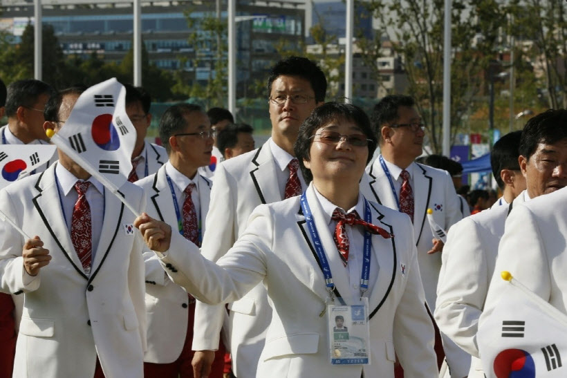
M 75 190 L 79 194 L 75 207 L 73 207 L 73 217 L 71 218 L 71 242 L 75 247 L 75 252 L 83 265 L 84 272 L 91 274 L 91 256 L 93 254 L 93 229 L 91 223 L 91 206 L 86 200 L 86 190 L 89 189 L 91 182 L 77 181 Z

